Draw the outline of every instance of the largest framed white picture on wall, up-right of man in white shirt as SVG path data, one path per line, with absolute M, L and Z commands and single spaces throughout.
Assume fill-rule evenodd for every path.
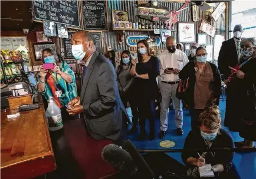
M 195 22 L 178 22 L 178 42 L 195 42 Z

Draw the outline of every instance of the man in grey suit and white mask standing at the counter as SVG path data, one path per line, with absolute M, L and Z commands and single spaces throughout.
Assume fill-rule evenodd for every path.
M 87 31 L 74 33 L 71 39 L 74 58 L 85 62 L 80 97 L 72 99 L 69 114 L 83 113 L 94 139 L 120 143 L 126 133 L 126 109 L 119 96 L 116 70 L 110 60 L 96 52 L 93 36 Z

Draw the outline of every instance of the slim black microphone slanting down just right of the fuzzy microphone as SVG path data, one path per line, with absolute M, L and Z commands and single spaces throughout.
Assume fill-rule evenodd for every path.
M 137 148 L 133 145 L 132 141 L 126 140 L 124 142 L 124 147 L 130 153 L 130 156 L 132 156 L 134 163 L 136 163 L 136 165 L 139 167 L 139 171 L 142 174 L 143 179 L 155 178 L 155 174 L 150 169 L 149 165 L 146 163 L 139 151 L 137 151 Z

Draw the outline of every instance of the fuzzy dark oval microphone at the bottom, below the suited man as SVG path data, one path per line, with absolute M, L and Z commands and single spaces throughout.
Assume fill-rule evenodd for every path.
M 101 157 L 120 173 L 133 176 L 138 170 L 130 154 L 115 144 L 105 146 Z

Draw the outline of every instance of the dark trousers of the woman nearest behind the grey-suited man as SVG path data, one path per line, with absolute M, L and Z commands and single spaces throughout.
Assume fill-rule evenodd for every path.
M 130 104 L 130 108 L 132 110 L 132 116 L 133 116 L 133 126 L 137 127 L 138 121 L 139 121 L 139 112 L 137 109 L 136 100 L 134 99 L 133 95 L 130 92 L 126 93 L 120 93 L 121 100 L 124 104 L 124 107 L 127 108 L 127 102 Z

